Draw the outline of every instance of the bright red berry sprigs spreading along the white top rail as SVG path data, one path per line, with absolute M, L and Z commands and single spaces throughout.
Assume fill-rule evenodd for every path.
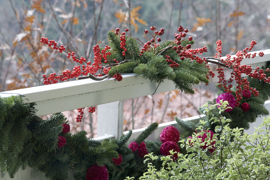
M 110 46 L 106 45 L 105 48 L 100 48 L 99 45 L 95 45 L 93 47 L 94 51 L 94 62 L 91 64 L 90 61 L 86 62 L 86 59 L 81 56 L 80 58 L 76 57 L 75 52 L 67 52 L 65 51 L 65 47 L 61 45 L 60 47 L 57 46 L 57 43 L 53 40 L 49 40 L 48 38 L 41 38 L 41 43 L 47 44 L 48 46 L 52 46 L 53 49 L 58 50 L 61 52 L 67 53 L 67 58 L 72 57 L 73 61 L 76 61 L 80 65 L 75 66 L 73 70 L 65 70 L 62 72 L 62 74 L 57 75 L 56 73 L 51 73 L 49 76 L 43 75 L 42 78 L 44 78 L 44 84 L 55 84 L 58 81 L 64 81 L 70 78 L 76 78 L 76 79 L 85 79 L 85 78 L 91 78 L 94 80 L 103 80 L 105 78 L 110 77 L 109 71 L 111 70 L 111 67 L 117 66 L 122 63 L 126 63 L 128 61 L 131 61 L 130 59 L 127 59 L 129 57 L 127 55 L 128 49 L 126 48 L 126 41 L 127 38 L 134 38 L 138 40 L 138 44 L 141 46 L 139 55 L 142 56 L 144 52 L 152 52 L 157 55 L 163 55 L 166 59 L 168 66 L 171 68 L 179 67 L 179 63 L 176 61 L 173 61 L 173 59 L 168 54 L 169 49 L 173 49 L 176 51 L 176 53 L 179 55 L 180 60 L 185 60 L 188 58 L 189 62 L 196 61 L 199 64 L 205 64 L 206 70 L 208 70 L 208 73 L 205 74 L 206 78 L 209 79 L 209 77 L 214 77 L 215 74 L 213 71 L 210 71 L 209 65 L 207 65 L 208 62 L 218 64 L 217 72 L 218 72 L 218 78 L 219 78 L 219 87 L 223 87 L 224 90 L 228 93 L 232 93 L 231 88 L 231 82 L 233 80 L 237 83 L 237 90 L 236 90 L 236 98 L 237 98 L 237 106 L 239 106 L 239 101 L 241 100 L 241 92 L 242 89 L 244 91 L 251 91 L 251 93 L 254 94 L 254 96 L 258 96 L 259 92 L 256 91 L 256 89 L 249 87 L 249 82 L 247 82 L 247 78 L 242 78 L 241 74 L 245 73 L 247 76 L 250 76 L 252 78 L 259 78 L 260 80 L 263 79 L 265 82 L 270 82 L 270 77 L 266 78 L 265 70 L 259 70 L 259 67 L 256 69 L 251 68 L 250 65 L 241 65 L 241 61 L 243 58 L 254 58 L 257 54 L 256 53 L 248 53 L 253 46 L 256 44 L 256 41 L 251 41 L 250 46 L 245 48 L 243 51 L 238 51 L 236 53 L 236 57 L 231 57 L 231 55 L 226 55 L 225 59 L 220 59 L 222 57 L 222 42 L 218 40 L 216 42 L 217 44 L 217 53 L 215 54 L 215 57 L 200 57 L 203 52 L 207 52 L 207 47 L 202 48 L 196 48 L 191 49 L 191 42 L 193 41 L 193 38 L 190 36 L 187 38 L 188 29 L 184 29 L 183 26 L 178 27 L 178 33 L 175 33 L 175 39 L 170 42 L 170 44 L 159 50 L 157 50 L 157 47 L 160 47 L 160 44 L 156 42 L 161 42 L 161 38 L 159 36 L 162 36 L 164 34 L 164 29 L 161 28 L 159 31 L 156 31 L 155 26 L 151 26 L 150 29 L 152 30 L 152 33 L 149 32 L 147 29 L 144 31 L 145 34 L 149 34 L 151 37 L 151 40 L 148 42 L 143 43 L 138 38 L 134 38 L 131 35 L 128 34 L 129 29 L 126 28 L 125 32 L 120 33 L 120 29 L 116 28 L 115 34 L 118 35 L 117 37 L 120 40 L 120 48 L 122 49 L 122 55 L 124 56 L 124 60 L 117 60 L 116 58 L 111 58 L 113 50 Z M 186 45 L 183 45 L 186 44 Z M 167 54 L 166 54 L 167 52 Z M 129 52 L 129 53 L 135 53 L 135 52 Z M 137 53 L 137 52 L 136 52 Z M 199 54 L 199 55 L 198 55 Z M 263 52 L 260 52 L 258 54 L 259 56 L 263 56 Z M 179 61 L 178 61 L 179 62 Z M 104 64 L 103 64 L 104 63 Z M 222 67 L 221 67 L 222 66 Z M 227 81 L 225 79 L 224 75 L 224 69 L 223 67 L 232 69 L 231 77 Z M 254 70 L 254 71 L 253 71 Z M 269 70 L 269 69 L 267 69 Z M 253 71 L 253 72 L 252 72 Z M 80 75 L 84 76 L 80 76 Z M 80 77 L 79 77 L 80 76 Z M 111 75 L 112 76 L 112 75 Z M 122 76 L 120 73 L 115 73 L 113 76 L 117 81 L 122 80 Z M 228 84 L 229 83 L 229 84 Z M 206 84 L 208 85 L 208 84 Z M 78 114 L 76 121 L 81 122 L 81 119 L 83 117 L 83 111 L 81 109 L 78 109 Z M 95 112 L 95 107 L 89 107 L 88 112 L 93 113 Z

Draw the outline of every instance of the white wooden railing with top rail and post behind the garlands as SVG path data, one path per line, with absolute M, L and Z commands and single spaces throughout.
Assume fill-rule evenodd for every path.
M 257 54 L 260 51 L 257 52 Z M 244 58 L 242 64 L 250 64 L 252 67 L 261 67 L 265 65 L 266 61 L 270 61 L 270 49 L 263 50 L 264 56 L 255 58 Z M 233 56 L 232 56 L 233 57 Z M 217 74 L 216 64 L 209 63 L 211 70 Z M 231 69 L 224 68 L 225 79 L 229 79 Z M 123 79 L 117 82 L 113 78 L 104 79 L 102 81 L 94 81 L 92 79 L 83 79 L 70 82 L 63 82 L 52 85 L 44 85 L 32 88 L 18 89 L 13 91 L 5 91 L 0 93 L 1 97 L 9 97 L 18 94 L 24 95 L 25 102 L 35 102 L 38 110 L 38 116 L 58 113 L 68 110 L 74 110 L 89 106 L 98 106 L 98 125 L 97 138 L 95 140 L 103 140 L 108 137 L 119 138 L 123 133 L 123 100 L 136 98 L 140 96 L 152 95 L 158 83 L 151 82 L 149 79 L 143 79 L 135 74 L 123 74 Z M 244 74 L 243 74 L 244 76 Z M 218 78 L 215 76 L 210 79 L 210 83 L 217 82 Z M 175 90 L 175 85 L 170 80 L 162 82 L 156 93 Z M 15 94 L 13 94 L 15 93 Z M 112 94 L 112 95 L 111 95 Z M 270 101 L 265 102 L 265 107 L 270 111 Z M 251 134 L 254 127 L 258 127 L 262 122 L 262 118 L 256 120 L 251 125 L 250 130 L 245 132 Z M 199 122 L 199 116 L 187 118 L 185 120 Z M 158 129 L 148 137 L 148 140 L 159 141 L 159 134 L 168 125 L 175 126 L 179 132 L 183 130 L 177 125 L 175 121 L 160 124 Z M 144 128 L 133 130 L 130 142 L 144 130 Z M 26 172 L 27 173 L 23 173 Z M 36 173 L 36 169 L 28 168 L 26 171 L 19 171 L 15 179 L 45 179 L 43 173 Z M 10 179 L 7 174 L 0 173 L 0 179 Z M 73 179 L 69 176 L 69 179 Z

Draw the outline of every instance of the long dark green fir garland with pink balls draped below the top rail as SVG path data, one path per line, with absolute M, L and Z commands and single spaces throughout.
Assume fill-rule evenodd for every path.
M 247 129 L 249 123 L 254 122 L 257 116 L 268 114 L 263 104 L 268 98 L 270 85 L 253 78 L 249 78 L 249 82 L 250 85 L 256 85 L 261 94 L 259 96 L 252 94 L 249 98 L 241 99 L 240 107 L 244 103 L 250 105 L 247 112 L 240 107 L 235 107 L 230 112 L 225 111 L 220 114 L 220 116 L 232 119 L 229 127 Z M 216 86 L 219 88 L 218 85 Z M 231 89 L 232 95 L 235 96 L 236 88 L 232 87 Z M 218 93 L 224 93 L 223 90 L 223 88 L 219 88 Z M 214 104 L 215 101 L 214 99 L 214 101 L 208 103 Z M 46 120 L 35 116 L 34 106 L 34 103 L 25 104 L 20 97 L 0 98 L 0 132 L 1 137 L 3 137 L 0 139 L 0 167 L 1 171 L 7 172 L 11 178 L 15 176 L 19 168 L 25 169 L 29 166 L 37 167 L 38 170 L 45 173 L 45 177 L 52 180 L 67 179 L 68 170 L 73 171 L 75 179 L 86 179 L 94 176 L 95 172 L 90 171 L 89 168 L 96 165 L 106 167 L 108 178 L 111 180 L 125 179 L 127 176 L 139 178 L 148 170 L 147 163 L 144 163 L 145 155 L 147 156 L 148 153 L 158 156 L 158 159 L 152 161 L 152 165 L 157 169 L 162 167 L 163 161 L 160 158 L 165 156 L 165 153 L 170 155 L 167 160 L 171 162 L 178 161 L 177 159 L 181 158 L 175 152 L 187 153 L 182 143 L 175 143 L 176 146 L 172 146 L 173 142 L 169 140 L 164 143 L 146 140 L 158 128 L 158 123 L 149 125 L 131 143 L 134 146 L 126 145 L 131 137 L 131 130 L 118 140 L 105 139 L 103 143 L 100 143 L 87 138 L 85 131 L 71 134 L 68 131 L 68 122 L 62 113 L 54 114 Z M 199 110 L 203 113 L 205 108 L 206 106 L 200 107 Z M 211 111 L 205 113 L 204 117 L 201 117 L 204 122 L 203 126 L 202 124 L 195 125 L 189 121 L 182 121 L 176 117 L 179 126 L 187 130 L 180 135 L 180 140 L 186 141 L 193 132 L 196 133 L 196 127 L 199 126 L 202 126 L 204 130 L 210 128 L 209 131 L 214 131 L 218 123 L 211 124 L 209 122 L 214 114 L 219 114 L 217 107 L 212 108 Z M 199 134 L 202 134 L 202 132 L 199 132 Z M 202 139 L 204 134 L 201 135 Z M 58 146 L 59 136 L 66 140 L 62 147 Z M 63 143 L 61 144 L 63 145 Z M 166 146 L 167 144 L 170 146 Z M 203 149 L 205 144 L 201 146 Z M 132 148 L 134 148 L 134 152 Z M 206 153 L 211 155 L 211 150 L 214 150 L 214 147 L 205 147 L 205 149 L 208 149 Z M 173 155 L 170 150 L 174 151 Z M 121 163 L 119 163 L 120 155 L 122 156 Z M 115 161 L 117 159 L 119 160 L 118 163 Z M 106 174 L 104 172 L 104 175 Z

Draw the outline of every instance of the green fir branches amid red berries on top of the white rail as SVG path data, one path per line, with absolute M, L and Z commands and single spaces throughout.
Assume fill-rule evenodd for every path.
M 155 49 L 147 50 L 140 56 L 137 40 L 132 37 L 126 37 L 125 47 L 127 52 L 123 56 L 119 35 L 116 35 L 114 32 L 108 32 L 107 39 L 111 46 L 110 52 L 112 52 L 107 63 L 112 64 L 112 59 L 114 58 L 120 62 L 118 66 L 113 66 L 109 70 L 108 74 L 111 77 L 116 73 L 135 73 L 158 83 L 164 82 L 164 79 L 169 79 L 174 82 L 176 88 L 188 95 L 194 94 L 193 85 L 199 84 L 199 82 L 209 82 L 206 78 L 208 69 L 205 67 L 205 64 L 199 64 L 196 61 L 190 62 L 190 59 L 182 61 L 179 54 L 172 49 L 173 41 L 164 41 Z M 193 45 L 194 40 L 182 41 L 183 46 L 187 44 Z M 179 64 L 179 67 L 170 67 L 170 63 L 166 61 L 167 58 L 164 54 L 169 55 L 173 61 Z

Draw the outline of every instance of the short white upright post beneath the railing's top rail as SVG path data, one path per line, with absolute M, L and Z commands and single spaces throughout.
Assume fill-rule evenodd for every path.
M 123 134 L 124 101 L 116 101 L 98 105 L 97 136 L 111 135 L 119 138 Z

